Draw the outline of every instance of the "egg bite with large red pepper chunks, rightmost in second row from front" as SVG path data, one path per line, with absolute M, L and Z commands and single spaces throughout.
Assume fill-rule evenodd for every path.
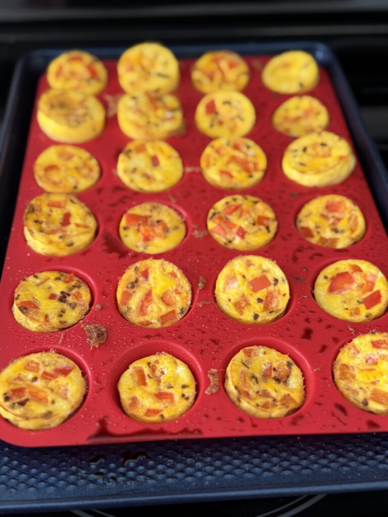
M 388 282 L 370 262 L 340 260 L 319 273 L 314 296 L 321 309 L 339 320 L 376 320 L 388 306 Z

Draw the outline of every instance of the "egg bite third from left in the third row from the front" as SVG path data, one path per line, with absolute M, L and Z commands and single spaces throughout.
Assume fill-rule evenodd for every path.
M 212 206 L 207 230 L 221 246 L 256 250 L 271 242 L 277 230 L 275 212 L 251 195 L 228 195 Z

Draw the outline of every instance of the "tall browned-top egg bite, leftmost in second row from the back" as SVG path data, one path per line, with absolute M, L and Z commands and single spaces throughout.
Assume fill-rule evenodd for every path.
M 92 95 L 77 90 L 47 90 L 38 102 L 38 124 L 57 142 L 79 144 L 98 136 L 105 126 L 105 109 Z

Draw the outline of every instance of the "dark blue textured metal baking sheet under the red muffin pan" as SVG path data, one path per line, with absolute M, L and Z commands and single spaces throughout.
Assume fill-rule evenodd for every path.
M 185 45 L 177 57 L 225 47 L 243 55 L 304 49 L 330 73 L 388 227 L 388 175 L 331 50 L 317 42 Z M 117 59 L 123 49 L 85 49 Z M 62 50 L 17 65 L 0 135 L 0 251 L 4 257 L 36 83 Z M 0 513 L 190 503 L 388 488 L 388 434 L 169 440 L 25 449 L 0 442 Z

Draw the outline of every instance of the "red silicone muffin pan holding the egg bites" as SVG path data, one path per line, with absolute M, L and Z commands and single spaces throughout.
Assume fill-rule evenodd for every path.
M 246 61 L 251 78 L 243 90 L 256 109 L 255 127 L 247 137 L 264 150 L 268 165 L 264 179 L 255 187 L 238 193 L 260 197 L 274 209 L 278 231 L 267 246 L 247 254 L 272 258 L 285 273 L 291 299 L 287 310 L 276 322 L 262 325 L 238 323 L 216 306 L 214 287 L 219 271 L 233 257 L 246 254 L 221 247 L 206 232 L 206 216 L 211 206 L 234 193 L 208 184 L 202 177 L 199 160 L 211 141 L 201 134 L 194 122 L 201 99 L 191 85 L 192 59 L 183 59 L 180 97 L 186 133 L 168 142 L 184 163 L 184 177 L 173 188 L 158 194 L 133 192 L 116 174 L 117 157 L 128 143 L 120 131 L 114 107 L 123 93 L 117 81 L 116 62 L 107 61 L 109 84 L 98 97 L 108 107 L 105 130 L 95 140 L 82 144 L 97 158 L 101 178 L 91 189 L 79 194 L 98 220 L 95 240 L 84 251 L 67 257 L 45 257 L 32 251 L 23 237 L 23 213 L 28 202 L 42 193 L 35 183 L 33 164 L 41 151 L 55 142 L 39 129 L 36 105 L 31 119 L 19 195 L 11 229 L 3 278 L 0 307 L 0 332 L 3 336 L 0 368 L 12 359 L 33 352 L 56 352 L 76 361 L 83 370 L 88 391 L 76 414 L 56 428 L 25 431 L 0 419 L 0 438 L 22 446 L 58 446 L 111 442 L 135 442 L 177 438 L 210 438 L 249 435 L 286 435 L 314 433 L 350 433 L 388 431 L 388 417 L 372 415 L 348 403 L 335 388 L 332 363 L 339 348 L 354 336 L 372 329 L 386 331 L 388 314 L 368 323 L 349 324 L 320 309 L 311 294 L 319 271 L 344 258 L 359 258 L 374 263 L 388 275 L 385 257 L 388 239 L 359 161 L 343 183 L 325 188 L 307 188 L 289 180 L 281 170 L 283 151 L 291 138 L 278 133 L 271 125 L 274 110 L 288 95 L 266 89 L 261 69 L 269 56 L 250 56 Z M 36 99 L 48 88 L 45 75 L 40 78 Z M 330 112 L 329 131 L 352 143 L 349 129 L 336 98 L 329 74 L 320 67 L 319 84 L 309 92 L 323 102 Z M 295 218 L 301 207 L 317 195 L 336 193 L 350 197 L 363 211 L 367 230 L 363 239 L 350 248 L 332 250 L 306 241 L 296 230 Z M 132 263 L 150 257 L 128 250 L 118 236 L 118 225 L 131 206 L 145 202 L 165 203 L 180 212 L 186 221 L 187 235 L 175 249 L 155 258 L 166 258 L 180 267 L 188 277 L 193 292 L 187 315 L 167 328 L 150 329 L 130 324 L 116 305 L 118 279 Z M 85 280 L 92 291 L 90 312 L 83 322 L 107 329 L 107 341 L 91 348 L 81 323 L 54 333 L 35 333 L 21 327 L 11 312 L 13 291 L 20 280 L 37 271 L 73 271 Z M 200 276 L 206 279 L 198 288 Z M 238 409 L 223 388 L 228 362 L 247 345 L 265 345 L 289 354 L 303 372 L 306 397 L 294 414 L 279 419 L 254 418 Z M 176 421 L 146 424 L 123 413 L 117 382 L 128 365 L 156 352 L 169 352 L 190 367 L 197 381 L 197 397 L 190 410 Z M 219 390 L 207 394 L 208 371 L 217 370 Z

